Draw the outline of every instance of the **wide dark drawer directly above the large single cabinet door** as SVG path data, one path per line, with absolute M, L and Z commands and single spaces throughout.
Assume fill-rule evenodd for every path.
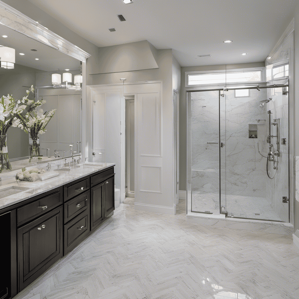
M 62 193 L 60 192 L 60 189 L 57 189 L 56 192 L 17 209 L 18 225 L 22 225 L 36 216 L 41 216 L 42 214 L 47 213 L 61 203 Z

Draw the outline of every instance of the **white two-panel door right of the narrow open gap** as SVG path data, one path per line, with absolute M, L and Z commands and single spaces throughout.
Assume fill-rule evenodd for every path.
M 135 203 L 160 205 L 162 186 L 162 123 L 160 85 L 154 92 L 138 93 L 137 109 L 138 166 Z

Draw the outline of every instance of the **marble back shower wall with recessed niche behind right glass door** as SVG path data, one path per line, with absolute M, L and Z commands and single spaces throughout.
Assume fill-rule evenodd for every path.
M 266 100 L 266 89 L 250 89 L 249 97 L 235 97 L 234 90 L 226 92 L 226 105 L 220 104 L 220 123 L 225 123 L 226 132 L 221 132 L 225 142 L 226 194 L 266 197 L 266 158 L 260 155 L 267 147 L 267 111 L 261 108 Z M 221 100 L 221 99 L 220 99 Z M 249 124 L 257 126 L 257 138 L 249 137 Z M 266 156 L 266 151 L 263 153 Z M 229 207 L 227 207 L 229 211 Z

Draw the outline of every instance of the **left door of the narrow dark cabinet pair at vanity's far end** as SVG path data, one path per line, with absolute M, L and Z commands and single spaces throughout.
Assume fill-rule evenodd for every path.
M 91 188 L 91 229 L 103 218 L 104 183 Z

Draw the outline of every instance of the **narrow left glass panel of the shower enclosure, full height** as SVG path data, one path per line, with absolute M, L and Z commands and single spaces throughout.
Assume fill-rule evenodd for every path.
M 219 91 L 188 92 L 188 106 L 191 211 L 219 214 Z

